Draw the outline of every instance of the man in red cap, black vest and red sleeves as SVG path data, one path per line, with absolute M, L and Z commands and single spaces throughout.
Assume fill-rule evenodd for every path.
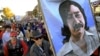
M 17 32 L 10 33 L 10 40 L 4 45 L 5 56 L 26 56 L 28 46 L 23 40 L 17 40 Z

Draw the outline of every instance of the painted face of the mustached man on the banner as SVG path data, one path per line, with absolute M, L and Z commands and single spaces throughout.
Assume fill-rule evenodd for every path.
M 68 12 L 66 21 L 72 36 L 81 36 L 84 33 L 85 20 L 77 6 L 70 5 L 70 11 Z

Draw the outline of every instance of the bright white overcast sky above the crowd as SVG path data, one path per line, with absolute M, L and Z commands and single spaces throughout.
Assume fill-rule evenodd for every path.
M 9 7 L 15 15 L 25 15 L 38 4 L 37 0 L 0 0 L 0 9 Z

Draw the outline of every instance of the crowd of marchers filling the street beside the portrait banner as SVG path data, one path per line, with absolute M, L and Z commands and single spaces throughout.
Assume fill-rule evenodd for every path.
M 42 20 L 4 24 L 0 29 L 0 56 L 51 56 Z

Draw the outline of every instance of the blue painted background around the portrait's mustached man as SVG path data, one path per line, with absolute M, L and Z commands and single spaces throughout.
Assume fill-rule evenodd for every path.
M 40 0 L 42 12 L 44 14 L 46 25 L 50 33 L 50 37 L 56 53 L 63 46 L 62 41 L 64 39 L 64 36 L 61 35 L 61 27 L 63 27 L 63 22 L 61 20 L 58 11 L 59 4 L 62 1 L 63 0 Z M 74 1 L 78 2 L 84 8 L 88 26 L 89 27 L 94 26 L 95 25 L 93 20 L 94 17 L 91 12 L 89 0 L 74 0 Z

